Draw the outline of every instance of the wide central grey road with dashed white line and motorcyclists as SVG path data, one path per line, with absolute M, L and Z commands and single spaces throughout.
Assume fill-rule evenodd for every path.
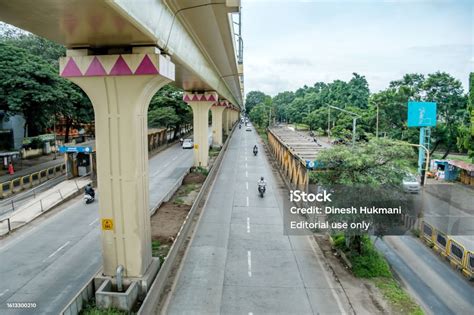
M 283 234 L 287 194 L 237 129 L 183 258 L 166 314 L 341 314 L 347 302 L 308 236 Z M 257 180 L 268 182 L 262 199 Z

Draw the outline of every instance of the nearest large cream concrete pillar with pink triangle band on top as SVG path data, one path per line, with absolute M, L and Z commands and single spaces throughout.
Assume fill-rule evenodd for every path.
M 153 47 L 132 54 L 89 56 L 70 50 L 60 74 L 94 106 L 103 273 L 142 277 L 151 264 L 148 212 L 147 111 L 152 96 L 174 80 L 174 64 Z

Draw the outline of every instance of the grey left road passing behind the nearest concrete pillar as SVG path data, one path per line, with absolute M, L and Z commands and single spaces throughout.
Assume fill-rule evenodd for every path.
M 150 208 L 192 165 L 174 145 L 149 161 Z M 98 194 L 100 198 L 100 192 Z M 102 264 L 98 202 L 81 200 L 0 242 L 0 314 L 58 314 Z M 8 309 L 34 302 L 35 309 Z

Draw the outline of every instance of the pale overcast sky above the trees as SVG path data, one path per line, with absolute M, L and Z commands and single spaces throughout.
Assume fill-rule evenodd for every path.
M 474 0 L 242 0 L 245 92 L 474 71 Z

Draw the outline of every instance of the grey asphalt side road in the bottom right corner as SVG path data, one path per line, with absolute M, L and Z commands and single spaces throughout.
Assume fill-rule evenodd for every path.
M 392 268 L 429 314 L 472 314 L 474 286 L 412 236 L 377 240 Z

